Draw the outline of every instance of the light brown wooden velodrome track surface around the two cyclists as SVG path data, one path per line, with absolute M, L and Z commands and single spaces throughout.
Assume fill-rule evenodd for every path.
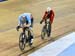
M 66 33 L 75 31 L 75 0 L 8 0 L 0 3 L 0 56 L 27 56 L 35 50 L 52 41 L 42 41 L 40 32 L 42 25 L 39 21 L 43 12 L 50 6 L 55 12 L 52 24 L 53 40 Z M 18 47 L 19 32 L 16 31 L 19 14 L 31 12 L 35 18 L 34 23 L 34 48 L 26 47 L 21 52 Z

